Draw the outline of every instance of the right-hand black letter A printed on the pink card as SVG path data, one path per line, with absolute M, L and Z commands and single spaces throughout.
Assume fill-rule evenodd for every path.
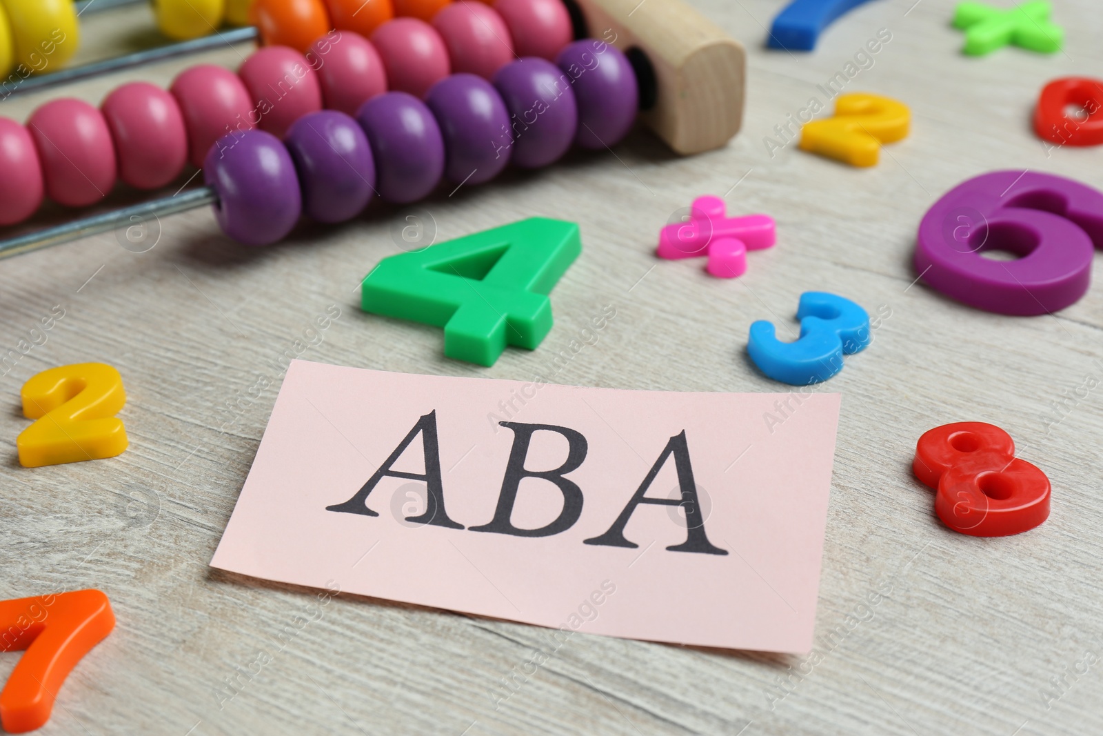
M 663 465 L 666 462 L 666 458 L 674 456 L 674 467 L 678 473 L 678 487 L 682 490 L 682 499 L 649 499 L 644 498 L 644 493 L 651 488 L 651 483 L 654 482 L 655 477 L 658 471 L 662 470 Z M 686 444 L 686 433 L 685 429 L 682 434 L 671 437 L 671 440 L 666 442 L 666 447 L 663 449 L 658 459 L 655 460 L 655 465 L 651 467 L 647 472 L 647 477 L 643 479 L 640 483 L 640 489 L 632 497 L 632 500 L 628 502 L 624 506 L 624 511 L 621 515 L 617 518 L 613 525 L 609 527 L 609 531 L 601 536 L 595 536 L 590 540 L 583 540 L 583 544 L 598 544 L 607 545 L 610 547 L 638 547 L 640 545 L 634 542 L 629 542 L 624 538 L 624 526 L 628 525 L 628 520 L 632 516 L 632 512 L 641 503 L 656 503 L 660 505 L 681 505 L 686 513 L 686 541 L 682 544 L 676 544 L 671 547 L 666 547 L 671 552 L 699 552 L 706 555 L 726 555 L 727 550 L 721 550 L 714 546 L 709 541 L 708 536 L 705 534 L 705 520 L 700 515 L 700 504 L 697 502 L 697 484 L 693 480 L 693 467 L 689 465 L 689 446 Z

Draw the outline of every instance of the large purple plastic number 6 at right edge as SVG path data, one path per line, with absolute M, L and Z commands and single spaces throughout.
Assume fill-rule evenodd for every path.
M 1103 248 L 1103 193 L 1063 177 L 995 171 L 959 184 L 919 224 L 924 281 L 978 309 L 1045 314 L 1084 296 Z M 1009 250 L 1017 260 L 985 258 Z

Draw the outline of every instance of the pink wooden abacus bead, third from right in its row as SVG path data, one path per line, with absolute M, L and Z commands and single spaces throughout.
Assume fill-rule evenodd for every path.
M 383 57 L 392 92 L 424 98 L 429 87 L 451 71 L 445 40 L 436 29 L 416 18 L 387 21 L 375 29 L 372 43 Z

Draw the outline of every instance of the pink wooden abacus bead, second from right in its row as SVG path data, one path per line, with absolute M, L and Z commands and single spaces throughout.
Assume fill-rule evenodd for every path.
M 514 58 L 510 29 L 490 6 L 453 2 L 433 15 L 432 26 L 448 46 L 453 74 L 468 72 L 489 79 Z

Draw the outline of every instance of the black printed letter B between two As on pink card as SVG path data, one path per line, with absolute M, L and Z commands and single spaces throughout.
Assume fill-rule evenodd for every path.
M 567 427 L 556 427 L 549 424 L 522 424 L 520 422 L 499 422 L 500 425 L 513 430 L 513 449 L 505 465 L 505 477 L 502 479 L 502 491 L 497 497 L 497 509 L 489 524 L 472 526 L 472 532 L 496 532 L 514 536 L 552 536 L 575 525 L 582 513 L 582 490 L 578 484 L 564 478 L 576 470 L 586 459 L 587 442 L 578 431 Z M 525 458 L 528 456 L 528 444 L 533 433 L 544 429 L 556 431 L 567 438 L 567 459 L 558 468 L 552 470 L 526 470 Z M 518 529 L 510 521 L 513 516 L 513 504 L 517 501 L 517 488 L 524 478 L 540 478 L 555 483 L 563 493 L 563 511 L 550 524 L 539 529 Z

